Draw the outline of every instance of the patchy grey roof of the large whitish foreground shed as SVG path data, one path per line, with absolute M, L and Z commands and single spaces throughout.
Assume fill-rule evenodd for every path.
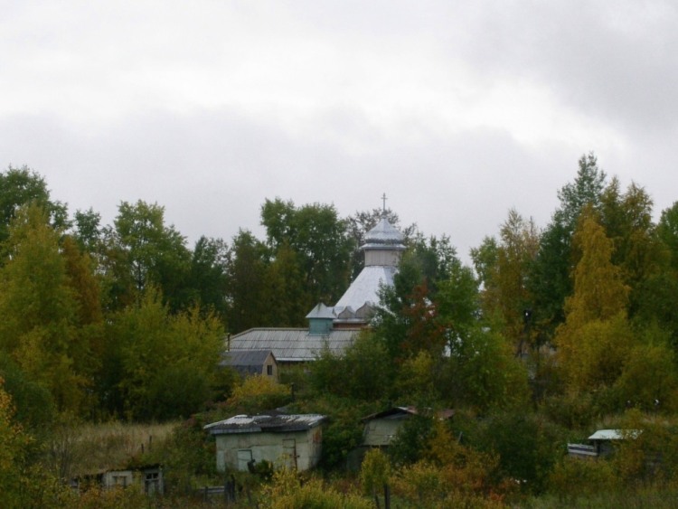
M 212 422 L 203 429 L 212 435 L 228 433 L 284 433 L 287 431 L 305 431 L 320 424 L 325 419 L 319 414 L 278 414 L 278 415 L 236 415 L 229 419 Z

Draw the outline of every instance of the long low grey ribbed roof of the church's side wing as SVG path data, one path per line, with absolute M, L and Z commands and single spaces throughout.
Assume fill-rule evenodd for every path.
M 304 328 L 254 328 L 231 336 L 231 350 L 270 350 L 278 363 L 315 361 L 325 346 L 344 353 L 361 329 L 336 329 L 329 335 L 309 335 Z

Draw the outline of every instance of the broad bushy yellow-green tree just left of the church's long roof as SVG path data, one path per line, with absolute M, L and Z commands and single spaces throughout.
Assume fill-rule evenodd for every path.
M 108 325 L 110 410 L 131 419 L 188 417 L 212 398 L 223 329 L 198 308 L 170 314 L 159 292 L 146 289 Z

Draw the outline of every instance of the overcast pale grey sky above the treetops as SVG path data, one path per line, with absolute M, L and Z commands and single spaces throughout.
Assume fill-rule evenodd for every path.
M 466 259 L 579 156 L 678 201 L 678 3 L 0 0 L 0 165 L 193 245 L 266 198 L 387 205 Z

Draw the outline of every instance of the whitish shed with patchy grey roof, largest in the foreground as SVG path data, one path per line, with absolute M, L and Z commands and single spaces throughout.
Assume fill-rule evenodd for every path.
M 251 470 L 268 461 L 275 467 L 308 470 L 320 461 L 322 423 L 317 414 L 237 415 L 204 427 L 216 438 L 217 469 Z

